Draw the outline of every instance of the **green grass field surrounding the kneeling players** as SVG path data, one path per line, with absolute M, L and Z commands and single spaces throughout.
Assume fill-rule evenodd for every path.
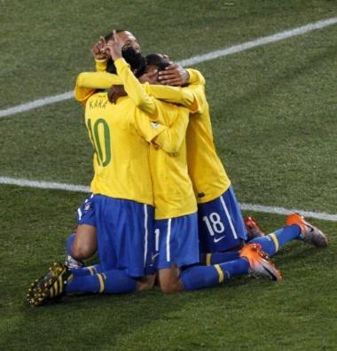
M 0 110 L 74 88 L 92 43 L 129 28 L 174 60 L 337 17 L 333 0 L 0 0 Z M 194 67 L 207 79 L 218 152 L 239 201 L 336 214 L 337 25 Z M 91 148 L 74 100 L 0 119 L 0 176 L 88 185 Z M 326 250 L 275 257 L 285 278 L 200 292 L 69 296 L 31 308 L 29 284 L 63 261 L 83 193 L 0 184 L 2 350 L 337 350 L 337 223 Z M 247 213 L 244 213 L 247 214 Z M 275 230 L 284 215 L 253 213 Z

